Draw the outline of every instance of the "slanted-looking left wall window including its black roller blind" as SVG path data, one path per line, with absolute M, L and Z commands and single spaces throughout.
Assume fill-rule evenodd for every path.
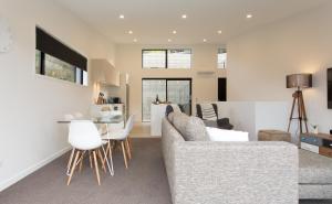
M 87 85 L 87 60 L 37 28 L 35 73 Z

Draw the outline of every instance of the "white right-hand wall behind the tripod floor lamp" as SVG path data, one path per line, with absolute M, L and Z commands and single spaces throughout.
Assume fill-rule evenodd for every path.
M 291 103 L 294 90 L 286 88 L 286 75 L 309 72 L 313 74 L 314 86 L 304 90 L 309 122 L 329 132 L 332 110 L 326 108 L 326 68 L 332 66 L 331 10 L 332 4 L 325 4 L 230 40 L 229 99 Z

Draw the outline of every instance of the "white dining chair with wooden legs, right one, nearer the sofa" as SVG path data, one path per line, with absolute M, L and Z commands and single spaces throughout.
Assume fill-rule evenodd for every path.
M 127 157 L 132 159 L 132 152 L 131 152 L 131 146 L 128 142 L 128 136 L 133 129 L 134 126 L 134 118 L 135 116 L 132 115 L 129 116 L 125 128 L 116 128 L 116 129 L 108 129 L 107 133 L 102 137 L 103 140 L 107 141 L 107 149 L 106 149 L 106 154 L 112 155 L 112 147 L 111 147 L 111 141 L 120 141 L 121 147 L 122 147 L 122 153 L 123 153 L 123 159 L 125 163 L 125 168 L 128 168 L 128 162 L 127 162 Z

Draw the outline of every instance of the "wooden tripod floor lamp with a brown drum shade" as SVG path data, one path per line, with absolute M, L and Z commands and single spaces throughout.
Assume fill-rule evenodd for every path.
M 286 86 L 287 88 L 297 88 L 297 90 L 293 93 L 293 104 L 292 104 L 292 109 L 289 118 L 289 124 L 288 124 L 288 132 L 290 130 L 290 126 L 292 120 L 298 120 L 299 121 L 299 129 L 300 133 L 303 133 L 303 122 L 305 127 L 305 132 L 308 132 L 308 118 L 307 118 L 307 111 L 305 111 L 305 106 L 304 106 L 304 100 L 303 100 L 303 88 L 310 88 L 312 87 L 312 75 L 311 74 L 292 74 L 292 75 L 287 75 L 286 76 Z M 294 117 L 294 108 L 298 108 L 298 116 Z

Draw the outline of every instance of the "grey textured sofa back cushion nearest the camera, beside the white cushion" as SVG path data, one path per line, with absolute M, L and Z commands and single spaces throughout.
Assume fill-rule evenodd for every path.
M 186 141 L 209 141 L 206 127 L 200 118 L 174 112 L 173 126 Z

